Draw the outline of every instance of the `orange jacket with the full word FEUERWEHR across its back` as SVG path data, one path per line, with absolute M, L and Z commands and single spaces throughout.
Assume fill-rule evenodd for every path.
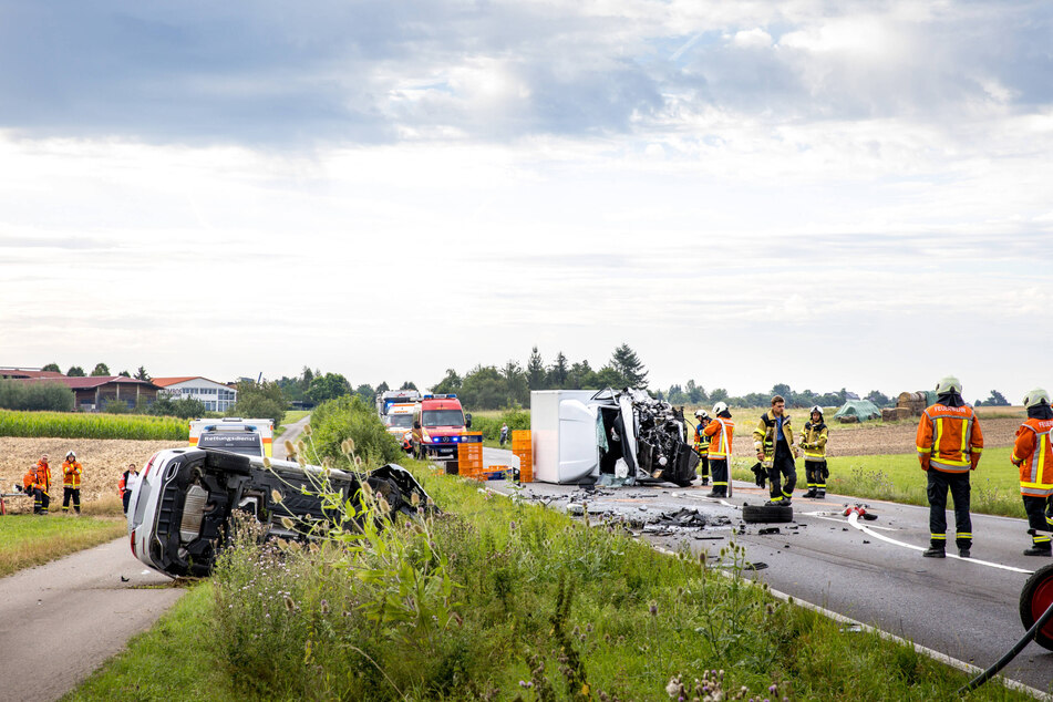
M 918 423 L 918 458 L 943 473 L 968 473 L 983 451 L 983 432 L 972 407 L 933 404 Z

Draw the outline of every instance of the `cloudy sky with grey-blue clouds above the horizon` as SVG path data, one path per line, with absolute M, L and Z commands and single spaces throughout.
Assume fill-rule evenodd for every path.
M 1047 2 L 0 0 L 0 365 L 1053 385 Z

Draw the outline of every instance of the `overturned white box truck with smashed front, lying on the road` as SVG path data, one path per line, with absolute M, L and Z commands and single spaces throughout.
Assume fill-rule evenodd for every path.
M 531 392 L 530 431 L 534 478 L 544 483 L 686 487 L 699 464 L 683 409 L 643 390 Z

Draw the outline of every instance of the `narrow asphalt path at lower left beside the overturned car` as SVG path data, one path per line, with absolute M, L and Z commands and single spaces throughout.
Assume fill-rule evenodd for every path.
M 0 579 L 0 700 L 68 693 L 179 599 L 171 584 L 127 538 Z

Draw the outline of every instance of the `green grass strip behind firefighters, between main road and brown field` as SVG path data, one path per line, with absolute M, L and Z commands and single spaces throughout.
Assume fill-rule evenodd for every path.
M 1010 463 L 1010 447 L 987 448 L 975 471 L 969 474 L 972 485 L 970 510 L 980 514 L 1025 518 L 1020 498 L 1016 467 Z M 753 482 L 750 466 L 755 461 L 734 458 L 732 474 L 736 479 Z M 835 456 L 828 460 L 830 477 L 827 491 L 871 499 L 886 499 L 908 505 L 928 505 L 928 478 L 916 454 L 877 456 Z M 804 487 L 804 461 L 797 460 L 797 486 Z M 948 496 L 948 506 L 953 498 Z

